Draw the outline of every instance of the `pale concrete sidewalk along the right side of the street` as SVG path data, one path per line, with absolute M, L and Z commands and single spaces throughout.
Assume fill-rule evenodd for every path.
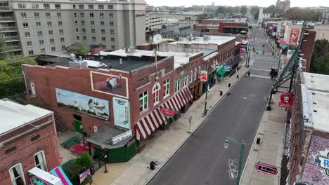
M 278 107 L 281 93 L 273 95 L 271 111 L 265 111 L 259 124 L 252 148 L 250 150 L 245 170 L 241 178 L 241 185 L 278 185 L 280 184 L 280 166 L 283 157 L 285 125 L 287 112 Z M 261 138 L 260 144 L 256 143 L 257 137 Z M 269 176 L 255 170 L 258 162 L 278 167 L 278 174 Z

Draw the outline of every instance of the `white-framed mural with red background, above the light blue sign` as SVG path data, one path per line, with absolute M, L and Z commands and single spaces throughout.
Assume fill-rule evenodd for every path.
M 117 97 L 129 98 L 128 78 L 121 75 L 90 71 L 91 90 Z

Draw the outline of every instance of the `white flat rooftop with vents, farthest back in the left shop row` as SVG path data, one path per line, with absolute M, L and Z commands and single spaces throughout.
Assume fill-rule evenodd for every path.
M 208 36 L 209 36 L 209 40 L 205 40 L 204 37 L 195 36 L 195 39 L 193 37 L 193 40 L 191 40 L 191 41 L 189 41 L 186 38 L 183 38 L 182 41 L 176 41 L 176 42 L 172 42 L 169 44 L 181 43 L 181 44 L 217 44 L 217 45 L 221 45 L 223 43 L 236 39 L 235 36 L 214 36 L 214 35 L 208 35 Z

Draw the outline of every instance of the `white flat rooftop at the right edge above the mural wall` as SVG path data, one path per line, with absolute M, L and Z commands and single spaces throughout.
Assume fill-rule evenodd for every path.
M 329 133 L 329 75 L 302 72 L 304 125 Z

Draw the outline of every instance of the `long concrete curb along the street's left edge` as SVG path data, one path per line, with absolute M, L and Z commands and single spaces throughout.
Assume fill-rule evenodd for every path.
M 198 125 L 197 128 L 195 128 L 195 130 L 193 130 L 193 132 L 191 132 L 191 134 L 182 142 L 182 144 L 172 153 L 172 155 L 169 156 L 168 160 L 165 163 L 162 163 L 159 167 L 157 167 L 157 170 L 155 171 L 154 174 L 152 174 L 152 176 L 148 179 L 148 181 L 146 181 L 145 185 L 148 184 L 148 182 L 150 182 L 153 177 L 155 177 L 155 175 L 157 174 L 157 172 L 159 172 L 162 167 L 164 165 L 166 165 L 168 163 L 168 161 L 172 158 L 172 156 L 174 156 L 174 154 L 181 149 L 181 146 L 183 146 L 183 144 L 186 143 L 186 141 L 188 139 L 190 139 L 190 137 L 194 134 L 194 132 L 196 132 L 196 130 L 198 130 L 200 128 L 200 126 L 207 120 L 207 118 L 210 116 L 210 114 L 212 114 L 212 111 L 214 111 L 215 108 L 217 108 L 217 106 L 221 103 L 221 101 L 224 100 L 224 98 L 226 97 L 227 93 L 229 92 L 229 90 L 231 90 L 232 88 L 234 88 L 236 86 L 236 84 L 238 84 L 238 82 L 240 82 L 240 80 L 247 74 L 247 72 L 250 71 L 250 68 L 247 69 L 247 71 L 245 71 L 245 73 L 243 73 L 240 78 L 238 78 L 238 81 L 236 81 L 236 83 L 234 83 L 231 88 L 229 88 L 226 93 L 224 93 L 224 95 L 221 97 L 221 100 L 219 100 L 216 104 L 214 104 L 214 106 L 208 111 L 207 116 L 205 116 L 205 119 L 202 121 L 202 123 L 200 123 L 200 125 Z

